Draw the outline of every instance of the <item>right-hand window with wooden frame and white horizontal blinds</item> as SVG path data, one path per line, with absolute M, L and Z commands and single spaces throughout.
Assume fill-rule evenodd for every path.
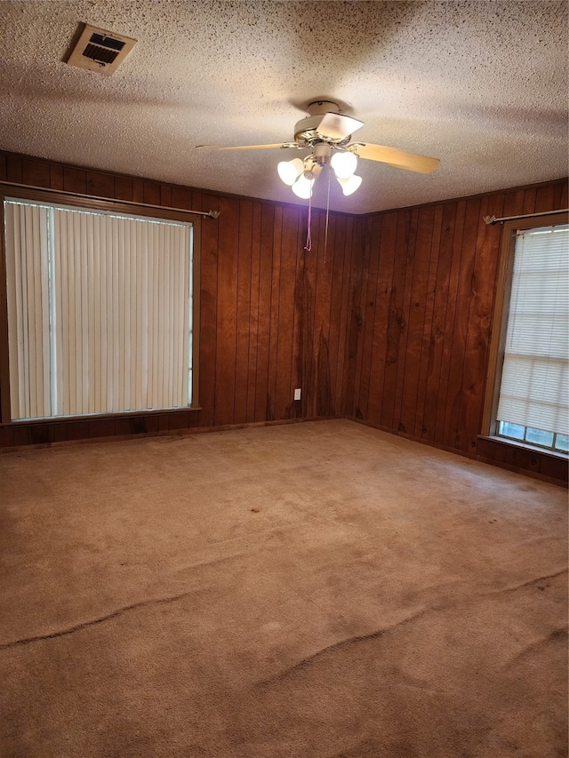
M 569 448 L 569 225 L 544 219 L 504 228 L 507 248 L 494 315 L 491 435 Z M 507 286 L 508 285 L 508 286 Z M 497 297 L 500 301 L 500 297 Z M 492 359 L 494 365 L 492 365 Z

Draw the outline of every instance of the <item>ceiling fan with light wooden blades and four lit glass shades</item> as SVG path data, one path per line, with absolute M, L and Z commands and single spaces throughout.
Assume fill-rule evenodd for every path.
M 308 199 L 317 174 L 325 165 L 333 169 L 344 195 L 351 195 L 362 183 L 356 175 L 357 158 L 379 161 L 398 169 L 429 173 L 437 168 L 438 158 L 416 156 L 397 148 L 373 145 L 369 142 L 351 142 L 352 133 L 364 125 L 357 118 L 345 116 L 340 106 L 333 100 L 314 100 L 307 110 L 309 116 L 302 118 L 294 126 L 293 142 L 276 142 L 270 145 L 244 145 L 236 148 L 222 148 L 215 145 L 197 145 L 196 148 L 218 150 L 260 150 L 266 148 L 309 148 L 304 158 L 293 158 L 278 164 L 278 175 L 284 184 L 293 188 L 298 197 Z

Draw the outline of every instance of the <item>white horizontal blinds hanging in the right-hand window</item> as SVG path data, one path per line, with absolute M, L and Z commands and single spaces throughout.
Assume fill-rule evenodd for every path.
M 497 418 L 569 434 L 569 225 L 518 233 Z

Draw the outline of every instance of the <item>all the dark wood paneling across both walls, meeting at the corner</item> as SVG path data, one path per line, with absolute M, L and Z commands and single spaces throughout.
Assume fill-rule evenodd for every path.
M 0 180 L 220 211 L 202 222 L 202 410 L 0 427 L 0 447 L 341 416 L 566 478 L 563 461 L 477 450 L 501 237 L 483 216 L 566 208 L 566 180 L 365 217 L 331 213 L 327 230 L 313 211 L 312 251 L 298 206 L 2 152 Z

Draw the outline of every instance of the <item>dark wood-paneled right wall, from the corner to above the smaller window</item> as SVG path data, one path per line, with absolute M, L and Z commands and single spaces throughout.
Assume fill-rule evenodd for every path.
M 483 217 L 563 208 L 566 180 L 357 219 L 344 415 L 476 455 L 501 241 Z

